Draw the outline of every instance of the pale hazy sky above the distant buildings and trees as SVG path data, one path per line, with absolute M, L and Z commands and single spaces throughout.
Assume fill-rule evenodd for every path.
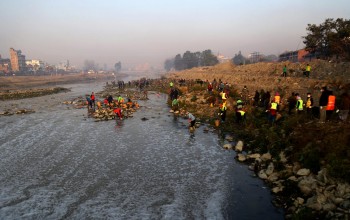
M 232 57 L 302 48 L 307 24 L 350 18 L 349 0 L 1 0 L 0 54 L 50 64 L 162 67 L 211 49 Z

